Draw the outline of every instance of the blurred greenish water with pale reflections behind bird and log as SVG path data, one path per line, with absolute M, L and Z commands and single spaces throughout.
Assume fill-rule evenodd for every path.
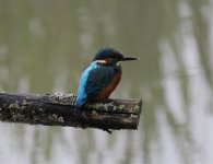
M 0 90 L 75 93 L 103 46 L 123 63 L 111 95 L 142 98 L 137 131 L 0 122 L 0 163 L 212 164 L 213 1 L 0 0 Z

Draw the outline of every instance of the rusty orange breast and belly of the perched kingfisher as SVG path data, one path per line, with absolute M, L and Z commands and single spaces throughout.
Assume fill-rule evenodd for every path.
M 120 82 L 121 79 L 121 72 L 117 71 L 114 77 L 111 78 L 110 83 L 104 87 L 100 93 L 97 95 L 96 101 L 105 101 L 109 97 L 111 92 L 116 89 L 118 83 Z

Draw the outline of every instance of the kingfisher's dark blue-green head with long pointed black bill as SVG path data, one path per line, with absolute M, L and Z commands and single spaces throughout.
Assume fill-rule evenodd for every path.
M 121 52 L 111 47 L 105 47 L 97 50 L 93 61 L 117 65 L 120 61 L 138 60 L 135 57 L 125 57 Z

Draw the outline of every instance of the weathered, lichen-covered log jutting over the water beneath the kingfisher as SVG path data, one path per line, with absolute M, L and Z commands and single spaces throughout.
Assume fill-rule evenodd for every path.
M 108 99 L 76 108 L 73 94 L 0 93 L 0 121 L 98 128 L 110 132 L 138 129 L 141 99 Z

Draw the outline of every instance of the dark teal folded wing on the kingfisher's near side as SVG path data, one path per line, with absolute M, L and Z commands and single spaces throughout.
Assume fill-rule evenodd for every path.
M 107 66 L 102 66 L 91 70 L 85 85 L 87 99 L 94 99 L 97 94 L 107 86 L 114 73 L 115 69 Z

